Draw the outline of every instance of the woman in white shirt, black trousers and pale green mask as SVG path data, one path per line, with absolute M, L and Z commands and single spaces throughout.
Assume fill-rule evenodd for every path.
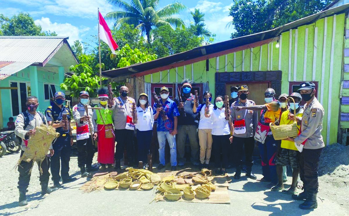
M 230 136 L 230 130 L 234 131 L 234 129 L 232 122 L 225 120 L 225 107 L 223 96 L 216 97 L 213 112 L 210 112 L 208 116 L 210 116 L 213 121 L 212 149 L 215 157 L 215 165 L 217 168 L 216 174 L 225 175 L 225 169 L 228 167 L 229 164 L 229 145 L 232 141 L 232 137 Z

